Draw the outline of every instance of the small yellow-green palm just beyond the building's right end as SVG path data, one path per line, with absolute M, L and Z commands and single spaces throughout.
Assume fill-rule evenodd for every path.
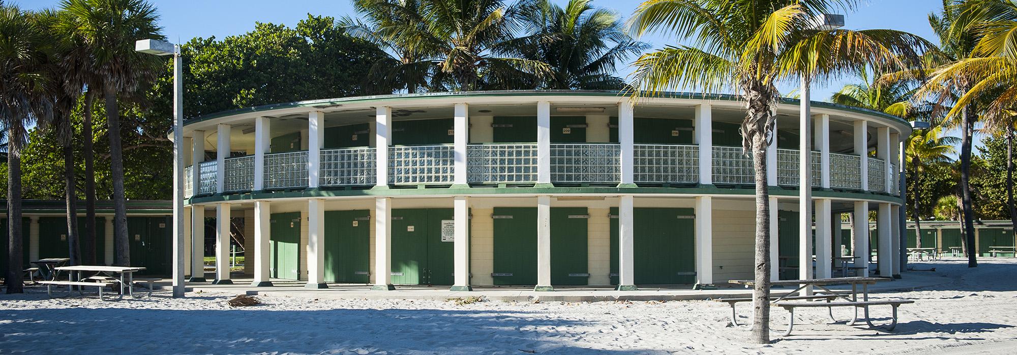
M 911 166 L 911 175 L 914 176 L 911 183 L 912 218 L 914 219 L 914 229 L 916 235 L 915 247 L 921 247 L 921 217 L 918 215 L 919 200 L 918 189 L 921 188 L 921 174 L 935 164 L 950 163 L 950 154 L 956 154 L 954 146 L 959 139 L 952 136 L 943 136 L 943 127 L 937 126 L 928 130 L 915 130 L 904 143 L 905 163 Z

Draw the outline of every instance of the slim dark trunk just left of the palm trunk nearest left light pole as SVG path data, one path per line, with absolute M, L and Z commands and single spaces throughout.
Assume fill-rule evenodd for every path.
M 96 91 L 84 94 L 84 116 L 81 131 L 84 134 L 84 235 L 81 236 L 81 263 L 96 265 L 96 152 L 93 151 L 92 108 Z M 106 261 L 109 263 L 110 261 Z

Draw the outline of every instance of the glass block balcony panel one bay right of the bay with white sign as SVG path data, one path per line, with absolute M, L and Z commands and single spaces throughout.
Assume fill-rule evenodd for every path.
M 537 182 L 536 144 L 474 144 L 466 147 L 467 180 L 473 184 Z

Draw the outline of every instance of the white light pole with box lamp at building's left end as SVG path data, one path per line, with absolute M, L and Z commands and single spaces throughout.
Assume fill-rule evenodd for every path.
M 158 40 L 134 43 L 134 51 L 157 56 L 173 55 L 173 296 L 184 296 L 184 135 L 183 68 L 180 45 Z

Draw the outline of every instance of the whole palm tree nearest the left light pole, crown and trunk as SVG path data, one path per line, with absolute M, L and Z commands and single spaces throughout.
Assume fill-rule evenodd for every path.
M 84 44 L 92 56 L 89 78 L 94 81 L 88 86 L 101 89 L 105 99 L 113 175 L 115 263 L 127 266 L 130 246 L 117 96 L 136 94 L 139 85 L 152 82 L 164 67 L 158 58 L 134 52 L 138 40 L 164 40 L 162 28 L 156 24 L 159 15 L 143 0 L 63 0 L 61 7 L 69 13 L 73 39 Z

